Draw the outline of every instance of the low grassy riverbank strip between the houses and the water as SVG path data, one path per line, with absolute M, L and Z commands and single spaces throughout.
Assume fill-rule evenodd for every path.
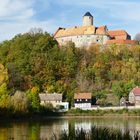
M 0 115 L 0 120 L 45 120 L 61 118 L 140 118 L 140 109 L 136 110 L 81 110 L 71 109 L 68 112 L 38 112 L 27 114 Z

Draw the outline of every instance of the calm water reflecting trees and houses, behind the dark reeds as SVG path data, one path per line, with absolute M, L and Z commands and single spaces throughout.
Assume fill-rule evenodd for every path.
M 129 129 L 140 132 L 140 118 L 69 118 L 46 119 L 42 121 L 0 122 L 0 140 L 50 140 L 58 138 L 62 131 L 83 128 L 90 131 L 92 126 Z

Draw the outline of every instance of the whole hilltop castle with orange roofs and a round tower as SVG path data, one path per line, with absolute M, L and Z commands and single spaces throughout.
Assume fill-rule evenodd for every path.
M 83 16 L 82 26 L 58 28 L 54 38 L 60 45 L 65 45 L 67 42 L 72 41 L 76 47 L 90 46 L 92 44 L 136 44 L 136 41 L 131 40 L 131 36 L 125 30 L 108 30 L 107 26 L 96 27 L 90 12 Z

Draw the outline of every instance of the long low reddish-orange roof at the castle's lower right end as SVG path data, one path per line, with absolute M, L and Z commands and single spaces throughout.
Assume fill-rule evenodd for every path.
M 123 40 L 123 39 L 119 39 L 119 40 L 108 40 L 106 42 L 106 45 L 111 45 L 111 44 L 117 44 L 117 45 L 136 45 L 138 42 L 135 40 Z

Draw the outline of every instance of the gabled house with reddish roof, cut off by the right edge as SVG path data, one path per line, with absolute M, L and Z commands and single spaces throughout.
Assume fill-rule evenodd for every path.
M 129 93 L 129 103 L 134 104 L 135 106 L 140 105 L 140 88 L 135 87 Z

